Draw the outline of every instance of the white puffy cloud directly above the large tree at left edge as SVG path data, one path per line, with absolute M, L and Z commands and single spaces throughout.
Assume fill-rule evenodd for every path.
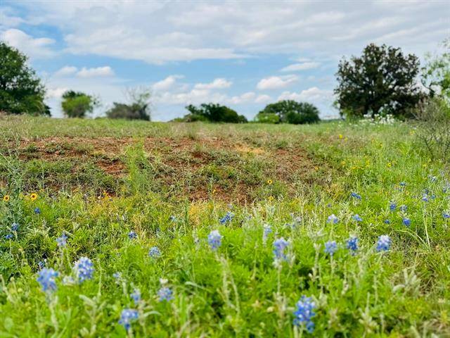
M 22 30 L 11 28 L 1 32 L 0 39 L 24 52 L 30 58 L 47 58 L 54 55 L 49 46 L 54 44 L 55 41 L 47 37 L 34 39 L 34 37 L 27 35 Z

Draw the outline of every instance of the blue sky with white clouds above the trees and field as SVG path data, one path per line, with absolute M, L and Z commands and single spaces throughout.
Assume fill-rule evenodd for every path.
M 30 57 L 54 117 L 68 89 L 98 96 L 98 116 L 146 87 L 153 120 L 206 102 L 252 119 L 282 99 L 333 118 L 340 59 L 375 43 L 423 61 L 448 37 L 450 1 L 0 1 L 0 39 Z

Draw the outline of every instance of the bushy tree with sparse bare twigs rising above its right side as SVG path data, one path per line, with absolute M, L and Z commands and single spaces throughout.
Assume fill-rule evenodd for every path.
M 106 112 L 108 118 L 124 118 L 127 120 L 150 120 L 151 92 L 144 87 L 128 89 L 126 96 L 129 104 L 114 102 L 113 108 Z

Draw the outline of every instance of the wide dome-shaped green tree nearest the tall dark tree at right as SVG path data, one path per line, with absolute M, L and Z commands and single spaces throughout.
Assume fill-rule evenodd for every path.
M 277 115 L 283 123 L 293 123 L 300 125 L 304 123 L 319 122 L 319 109 L 307 102 L 297 102 L 293 100 L 278 101 L 275 104 L 268 104 L 258 115 Z

